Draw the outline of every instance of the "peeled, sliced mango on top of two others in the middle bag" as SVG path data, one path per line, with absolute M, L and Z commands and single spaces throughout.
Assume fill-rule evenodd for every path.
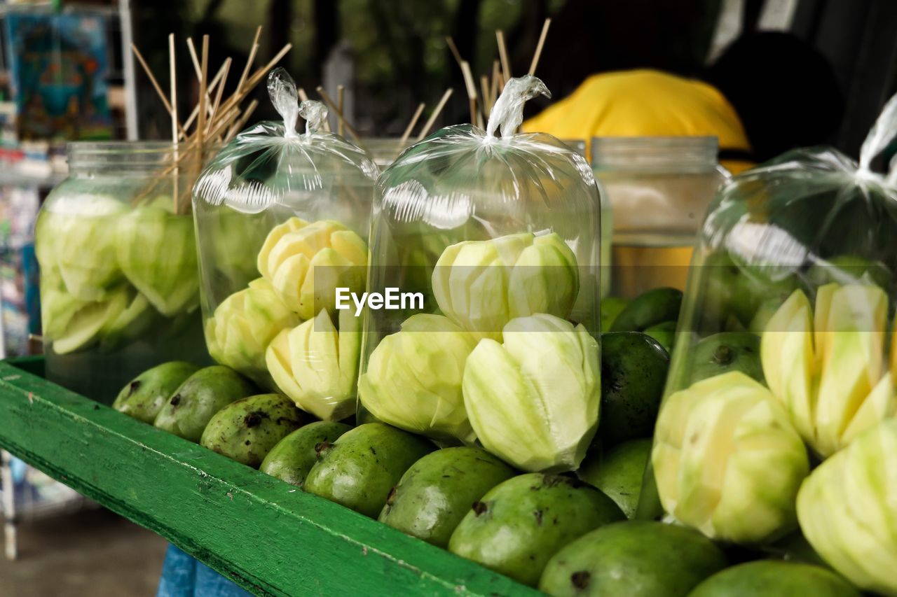
M 477 338 L 499 340 L 515 317 L 570 315 L 579 270 L 557 234 L 509 234 L 446 248 L 433 270 L 432 291 L 453 322 Z

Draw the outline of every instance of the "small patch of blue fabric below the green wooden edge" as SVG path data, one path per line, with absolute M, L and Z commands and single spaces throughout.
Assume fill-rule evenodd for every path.
M 252 597 L 252 593 L 169 545 L 156 597 Z

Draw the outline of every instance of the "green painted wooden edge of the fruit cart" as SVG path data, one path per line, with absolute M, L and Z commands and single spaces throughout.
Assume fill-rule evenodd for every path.
M 253 593 L 539 594 L 22 365 L 0 361 L 0 446 Z

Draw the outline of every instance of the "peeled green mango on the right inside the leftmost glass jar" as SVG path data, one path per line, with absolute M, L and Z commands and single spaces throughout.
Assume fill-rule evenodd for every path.
M 193 219 L 151 205 L 118 219 L 118 265 L 164 316 L 199 307 Z

